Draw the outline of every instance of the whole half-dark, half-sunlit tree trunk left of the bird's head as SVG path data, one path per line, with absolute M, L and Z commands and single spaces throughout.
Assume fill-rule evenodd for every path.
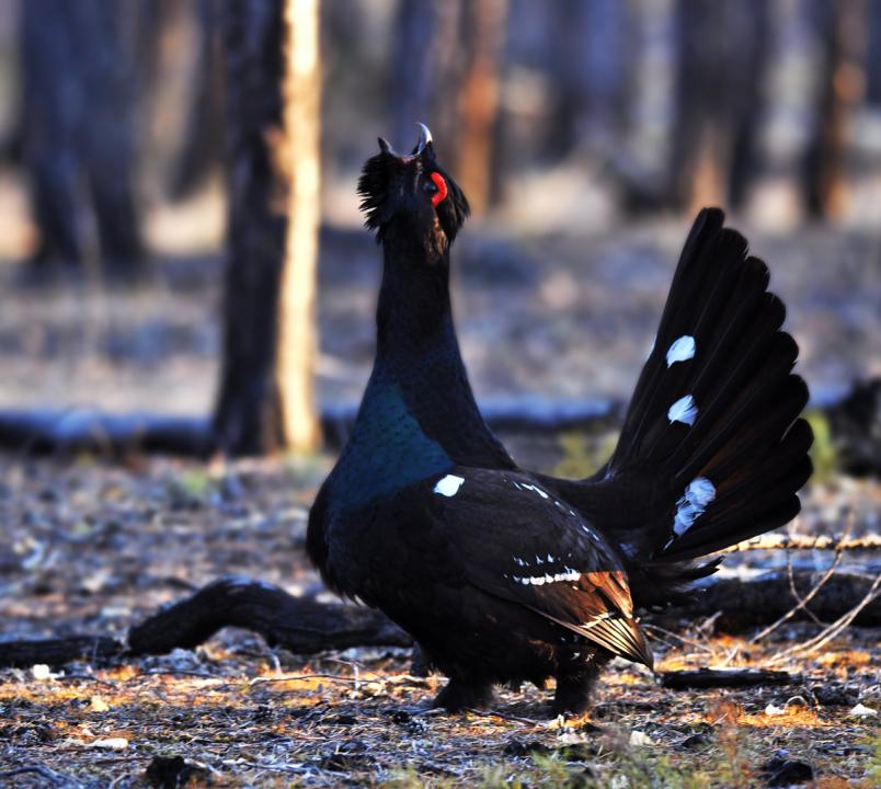
M 233 455 L 305 449 L 318 439 L 311 402 L 318 18 L 316 5 L 311 19 L 308 8 L 294 8 L 304 1 L 288 0 L 287 16 L 285 0 L 224 7 L 229 258 L 214 433 Z M 289 48 L 286 19 L 294 20 Z M 300 37 L 312 42 L 311 53 L 298 48 Z M 302 106 L 288 103 L 285 111 L 283 85 L 291 77 L 288 88 Z M 285 123 L 296 130 L 286 135 Z

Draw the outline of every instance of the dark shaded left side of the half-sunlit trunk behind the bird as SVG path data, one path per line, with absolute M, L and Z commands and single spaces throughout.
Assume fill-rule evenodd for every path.
M 224 7 L 227 101 L 227 273 L 224 357 L 214 431 L 232 455 L 283 444 L 275 386 L 284 208 L 271 139 L 282 136 L 282 2 Z

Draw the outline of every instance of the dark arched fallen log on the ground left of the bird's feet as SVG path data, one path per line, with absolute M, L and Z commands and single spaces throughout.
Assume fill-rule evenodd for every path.
M 193 649 L 225 627 L 262 636 L 271 647 L 313 654 L 350 647 L 410 647 L 413 639 L 384 614 L 362 606 L 294 597 L 262 581 L 227 578 L 128 631 L 129 653 Z

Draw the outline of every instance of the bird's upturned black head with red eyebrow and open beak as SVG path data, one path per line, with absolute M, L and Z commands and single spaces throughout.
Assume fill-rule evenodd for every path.
M 420 138 L 407 156 L 379 138 L 379 153 L 367 160 L 358 180 L 361 209 L 378 242 L 398 231 L 446 249 L 469 214 L 468 201 L 438 164 L 428 127 L 419 126 Z

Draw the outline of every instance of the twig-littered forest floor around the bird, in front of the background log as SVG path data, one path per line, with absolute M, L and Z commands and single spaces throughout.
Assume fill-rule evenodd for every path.
M 304 537 L 329 462 L 3 458 L 3 638 L 124 637 L 228 574 L 327 594 Z M 802 527 L 840 530 L 844 501 L 863 521 L 881 510 L 877 484 L 833 480 L 806 496 Z M 850 628 L 819 653 L 776 660 L 819 630 L 783 626 L 757 644 L 711 622 L 653 631 L 660 671 L 773 665 L 796 681 L 670 690 L 616 661 L 593 716 L 571 721 L 553 719 L 549 694 L 531 686 L 501 693 L 492 711 L 437 713 L 430 700 L 444 679 L 411 676 L 408 650 L 306 658 L 234 629 L 167 656 L 4 670 L 0 786 L 636 789 L 800 786 L 811 775 L 827 789 L 877 786 L 878 633 Z

